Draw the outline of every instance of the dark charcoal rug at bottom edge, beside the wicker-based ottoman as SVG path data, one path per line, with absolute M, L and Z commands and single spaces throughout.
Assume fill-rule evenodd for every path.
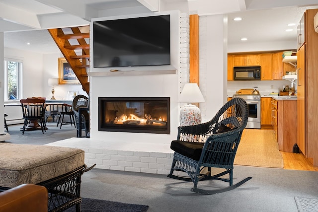
M 149 206 L 82 198 L 81 212 L 146 212 Z M 75 212 L 75 206 L 64 212 Z

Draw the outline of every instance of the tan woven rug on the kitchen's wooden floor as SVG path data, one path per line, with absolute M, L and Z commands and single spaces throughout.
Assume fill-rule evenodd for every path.
M 244 129 L 234 164 L 284 168 L 284 160 L 273 131 Z

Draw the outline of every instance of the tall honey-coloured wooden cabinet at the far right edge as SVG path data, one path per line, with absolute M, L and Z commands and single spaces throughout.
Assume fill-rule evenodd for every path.
M 317 77 L 317 58 L 318 58 L 318 33 L 315 32 L 313 21 L 318 9 L 309 9 L 305 12 L 305 37 L 304 45 L 297 53 L 297 66 L 299 68 L 297 80 L 297 115 L 299 115 L 300 147 L 306 157 L 318 166 L 318 77 Z M 299 99 L 299 100 L 298 100 Z M 304 122 L 304 123 L 302 123 Z M 304 135 L 302 135 L 304 133 Z M 305 138 L 305 142 L 303 141 Z M 302 149 L 304 148 L 304 149 Z

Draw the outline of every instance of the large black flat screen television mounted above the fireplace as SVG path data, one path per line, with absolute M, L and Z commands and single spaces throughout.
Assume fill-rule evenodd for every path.
M 93 67 L 170 65 L 170 15 L 93 22 Z

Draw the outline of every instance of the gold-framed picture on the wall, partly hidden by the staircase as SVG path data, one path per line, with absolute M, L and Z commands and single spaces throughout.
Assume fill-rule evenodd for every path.
M 59 58 L 59 84 L 79 84 L 78 77 L 65 58 Z

